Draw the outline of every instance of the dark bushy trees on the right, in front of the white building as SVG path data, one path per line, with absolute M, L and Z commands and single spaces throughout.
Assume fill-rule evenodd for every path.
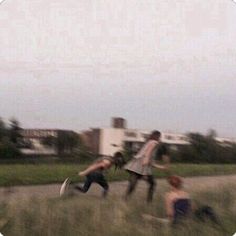
M 207 135 L 189 133 L 190 145 L 171 150 L 174 162 L 183 163 L 236 163 L 236 144 L 220 143 L 216 140 L 216 132 Z

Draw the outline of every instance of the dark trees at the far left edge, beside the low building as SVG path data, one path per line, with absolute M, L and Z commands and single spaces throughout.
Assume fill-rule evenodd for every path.
M 0 118 L 0 158 L 16 158 L 20 153 L 21 128 L 16 119 L 11 119 L 7 125 Z

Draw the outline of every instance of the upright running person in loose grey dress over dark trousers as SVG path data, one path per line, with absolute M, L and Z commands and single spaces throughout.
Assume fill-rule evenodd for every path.
M 167 157 L 165 157 L 165 165 L 158 165 L 154 163 L 153 157 L 156 148 L 158 147 L 160 141 L 161 133 L 157 130 L 153 131 L 148 139 L 148 141 L 144 144 L 141 150 L 129 161 L 124 169 L 129 172 L 129 184 L 126 191 L 125 199 L 128 199 L 129 196 L 135 190 L 138 180 L 144 179 L 149 184 L 147 201 L 151 202 L 153 198 L 153 193 L 155 189 L 155 180 L 152 175 L 152 166 L 166 170 L 167 169 Z

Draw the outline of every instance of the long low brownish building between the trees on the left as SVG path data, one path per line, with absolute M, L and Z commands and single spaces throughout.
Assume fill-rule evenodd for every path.
M 22 129 L 23 147 L 21 152 L 26 155 L 56 155 L 57 149 L 52 140 L 61 134 L 74 133 L 60 129 Z

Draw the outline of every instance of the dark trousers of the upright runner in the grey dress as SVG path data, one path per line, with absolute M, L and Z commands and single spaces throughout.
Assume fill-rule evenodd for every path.
M 143 176 L 143 175 L 137 174 L 132 171 L 129 171 L 129 174 L 130 174 L 129 185 L 128 185 L 128 189 L 126 191 L 126 199 L 128 199 L 128 197 L 134 192 L 138 180 L 144 179 L 149 184 L 148 193 L 147 193 L 147 201 L 151 202 L 152 198 L 153 198 L 155 186 L 156 186 L 156 182 L 155 182 L 153 176 L 152 175 Z

